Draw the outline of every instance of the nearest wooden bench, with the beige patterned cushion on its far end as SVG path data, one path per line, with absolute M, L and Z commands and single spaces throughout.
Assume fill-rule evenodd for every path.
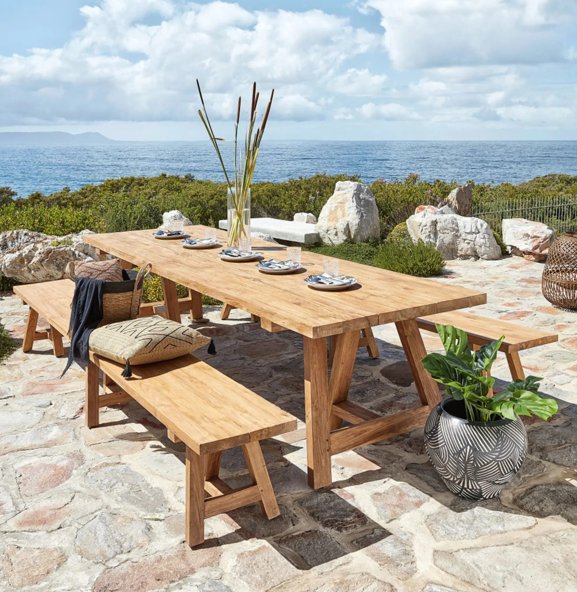
M 204 520 L 258 501 L 278 516 L 260 440 L 296 429 L 296 419 L 192 355 L 132 366 L 91 354 L 86 368 L 86 425 L 98 426 L 99 408 L 134 399 L 162 422 L 173 442 L 186 444 L 186 542 L 205 539 Z M 103 394 L 99 394 L 99 372 Z M 231 489 L 218 474 L 222 451 L 242 446 L 252 484 Z

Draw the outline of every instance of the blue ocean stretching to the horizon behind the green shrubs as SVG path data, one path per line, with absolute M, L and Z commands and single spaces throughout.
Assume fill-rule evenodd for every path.
M 232 144 L 223 144 L 223 157 L 232 162 Z M 356 174 L 365 182 L 414 172 L 427 181 L 518 184 L 547 173 L 577 175 L 577 141 L 264 140 L 253 180 L 287 181 L 319 172 Z M 0 187 L 9 186 L 20 197 L 160 173 L 223 181 L 208 141 L 0 145 Z

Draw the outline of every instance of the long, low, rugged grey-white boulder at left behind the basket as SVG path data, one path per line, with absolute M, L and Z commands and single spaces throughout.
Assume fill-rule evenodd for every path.
M 0 275 L 22 284 L 51 282 L 66 278 L 70 261 L 98 261 L 94 247 L 83 242 L 85 234 L 51 236 L 30 230 L 0 233 Z

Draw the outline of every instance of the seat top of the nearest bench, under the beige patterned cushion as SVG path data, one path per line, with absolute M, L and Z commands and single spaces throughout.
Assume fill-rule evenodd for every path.
M 192 355 L 132 366 L 91 354 L 102 372 L 197 454 L 296 429 L 296 419 Z

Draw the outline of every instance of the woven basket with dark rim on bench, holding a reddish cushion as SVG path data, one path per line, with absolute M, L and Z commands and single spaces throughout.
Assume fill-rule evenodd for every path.
M 144 278 L 150 273 L 152 265 L 146 263 L 138 271 L 135 269 L 123 269 L 122 282 L 104 282 L 102 295 L 102 321 L 99 327 L 109 323 L 118 323 L 136 318 L 140 312 L 142 298 L 142 285 Z M 69 263 L 67 271 L 72 275 L 74 266 Z

